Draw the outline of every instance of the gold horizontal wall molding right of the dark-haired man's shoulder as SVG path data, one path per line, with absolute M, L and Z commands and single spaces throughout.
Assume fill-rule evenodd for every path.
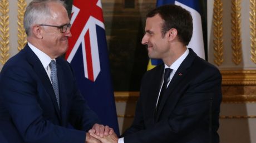
M 256 70 L 221 70 L 222 85 L 256 85 Z

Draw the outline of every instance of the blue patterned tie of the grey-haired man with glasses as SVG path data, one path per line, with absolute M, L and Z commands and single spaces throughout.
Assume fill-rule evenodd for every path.
M 57 76 L 57 67 L 55 60 L 52 60 L 49 64 L 51 68 L 51 80 L 52 80 L 52 88 L 55 92 L 55 96 L 58 103 L 58 108 L 60 109 L 60 96 L 58 94 L 58 76 Z

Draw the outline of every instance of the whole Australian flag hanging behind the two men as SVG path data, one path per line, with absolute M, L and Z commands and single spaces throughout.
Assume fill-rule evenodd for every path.
M 71 24 L 65 58 L 90 108 L 119 135 L 101 1 L 73 0 Z

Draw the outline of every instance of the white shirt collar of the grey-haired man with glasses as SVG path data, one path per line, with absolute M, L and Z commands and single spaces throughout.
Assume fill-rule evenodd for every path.
M 28 42 L 29 48 L 37 55 L 38 59 L 43 65 L 43 68 L 47 68 L 47 66 L 51 63 L 51 57 L 49 57 L 46 53 L 43 53 L 40 49 L 36 48 L 34 45 Z M 54 59 L 55 60 L 55 59 Z

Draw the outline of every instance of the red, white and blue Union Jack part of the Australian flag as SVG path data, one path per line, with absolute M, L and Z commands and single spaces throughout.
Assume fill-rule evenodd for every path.
M 73 1 L 71 15 L 72 38 L 66 53 L 68 62 L 71 62 L 77 49 L 82 47 L 83 70 L 85 77 L 95 81 L 100 73 L 99 48 L 97 44 L 96 25 L 105 29 L 102 16 L 101 1 L 91 2 Z M 76 4 L 77 3 L 77 4 Z

